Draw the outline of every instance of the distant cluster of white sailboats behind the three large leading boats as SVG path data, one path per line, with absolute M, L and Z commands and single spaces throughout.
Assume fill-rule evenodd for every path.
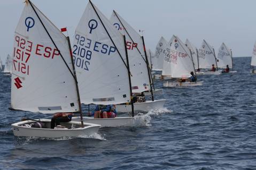
M 233 69 L 232 51 L 224 43 L 216 55 L 214 47 L 205 39 L 198 49 L 188 39 L 183 43 L 175 35 L 169 42 L 164 37 L 160 38 L 155 55 L 151 55 L 151 62 L 153 71 L 161 71 L 161 74 L 154 74 L 153 78 L 166 80 L 164 87 L 201 86 L 203 82 L 185 82 L 184 79 L 191 77 L 191 72 L 196 76 L 220 75 L 227 73 L 220 70 L 225 69 L 227 65 Z M 213 67 L 214 71 L 211 70 Z

